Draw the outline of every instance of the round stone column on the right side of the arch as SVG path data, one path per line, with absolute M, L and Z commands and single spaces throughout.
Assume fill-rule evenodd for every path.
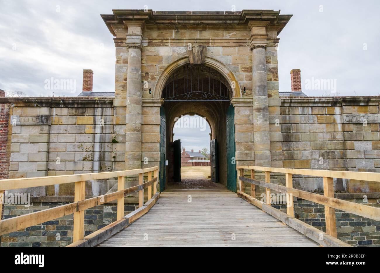
M 271 143 L 269 135 L 268 90 L 265 61 L 266 47 L 263 44 L 252 43 L 251 49 L 255 165 L 271 167 Z

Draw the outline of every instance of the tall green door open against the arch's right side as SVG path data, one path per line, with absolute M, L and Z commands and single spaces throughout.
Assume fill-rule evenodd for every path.
M 236 160 L 235 160 L 235 125 L 234 106 L 230 105 L 227 110 L 227 189 L 236 192 Z

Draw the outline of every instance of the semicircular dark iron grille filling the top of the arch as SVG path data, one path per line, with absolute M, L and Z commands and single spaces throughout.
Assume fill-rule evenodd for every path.
M 218 71 L 191 64 L 174 71 L 163 89 L 166 102 L 229 101 L 231 94 L 230 84 Z

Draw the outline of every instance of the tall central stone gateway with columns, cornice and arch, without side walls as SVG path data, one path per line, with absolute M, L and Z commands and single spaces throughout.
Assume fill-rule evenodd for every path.
M 269 131 L 280 111 L 277 34 L 290 16 L 114 10 L 102 17 L 116 46 L 114 134 L 125 134 L 125 151 L 114 144 L 114 169 L 160 163 L 161 190 L 180 180 L 171 151 L 179 152 L 172 130 L 182 114 L 209 122 L 212 180 L 228 189 L 236 191 L 236 164 L 282 167 L 270 147 L 281 132 Z

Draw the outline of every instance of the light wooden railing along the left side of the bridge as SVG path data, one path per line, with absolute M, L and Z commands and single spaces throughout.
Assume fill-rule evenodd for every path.
M 152 179 L 153 172 L 153 179 Z M 144 173 L 147 173 L 148 181 L 144 183 Z M 139 185 L 124 189 L 125 176 L 139 175 Z M 133 192 L 139 192 L 139 207 L 144 205 L 144 189 L 148 188 L 148 200 L 157 192 L 158 166 L 126 171 L 110 171 L 104 173 L 88 173 L 78 175 L 44 176 L 36 178 L 19 178 L 0 180 L 0 194 L 5 190 L 24 189 L 28 187 L 48 186 L 54 184 L 75 183 L 74 202 L 62 206 L 56 206 L 47 210 L 20 215 L 0 221 L 0 235 L 25 229 L 33 225 L 51 221 L 59 217 L 74 214 L 73 242 L 84 237 L 84 211 L 86 209 L 109 203 L 117 199 L 117 220 L 124 217 L 124 197 Z M 86 181 L 108 179 L 117 177 L 117 191 L 98 197 L 85 199 Z M 152 190 L 153 186 L 153 190 Z M 0 205 L 0 211 L 2 204 Z M 112 225 L 112 224 L 110 224 Z

